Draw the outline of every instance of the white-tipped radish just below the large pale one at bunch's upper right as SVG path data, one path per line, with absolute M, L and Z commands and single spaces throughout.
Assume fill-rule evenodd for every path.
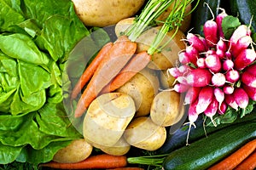
M 236 42 L 235 48 L 232 48 L 231 53 L 233 54 L 233 58 L 236 58 L 243 49 L 248 48 L 252 42 L 253 39 L 250 36 L 240 37 Z

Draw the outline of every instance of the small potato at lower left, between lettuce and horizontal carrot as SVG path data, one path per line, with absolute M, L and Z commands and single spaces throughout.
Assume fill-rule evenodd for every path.
M 83 161 L 92 152 L 92 145 L 84 139 L 75 139 L 65 148 L 58 150 L 53 157 L 53 161 L 60 163 L 75 163 Z

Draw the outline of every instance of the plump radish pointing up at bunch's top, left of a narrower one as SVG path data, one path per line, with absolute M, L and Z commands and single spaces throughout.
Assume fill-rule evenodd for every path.
M 209 47 L 213 47 L 218 42 L 218 26 L 214 20 L 207 20 L 203 26 L 203 32 Z

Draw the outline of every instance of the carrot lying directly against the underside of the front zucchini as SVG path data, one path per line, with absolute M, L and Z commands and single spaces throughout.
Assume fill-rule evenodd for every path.
M 231 170 L 236 167 L 241 161 L 245 160 L 247 156 L 253 153 L 256 149 L 256 139 L 253 139 L 247 144 L 241 146 L 239 150 L 236 150 L 230 156 L 226 157 L 223 161 L 218 162 L 216 165 L 213 165 L 209 170 Z

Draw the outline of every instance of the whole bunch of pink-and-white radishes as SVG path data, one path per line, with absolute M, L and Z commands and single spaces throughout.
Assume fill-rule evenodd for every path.
M 250 27 L 238 26 L 225 39 L 221 24 L 226 16 L 223 12 L 216 20 L 207 20 L 204 37 L 189 32 L 188 45 L 178 54 L 180 65 L 168 69 L 177 79 L 173 89 L 186 93 L 190 124 L 201 113 L 212 120 L 229 106 L 238 111 L 247 107 L 249 99 L 256 100 L 256 53 Z

